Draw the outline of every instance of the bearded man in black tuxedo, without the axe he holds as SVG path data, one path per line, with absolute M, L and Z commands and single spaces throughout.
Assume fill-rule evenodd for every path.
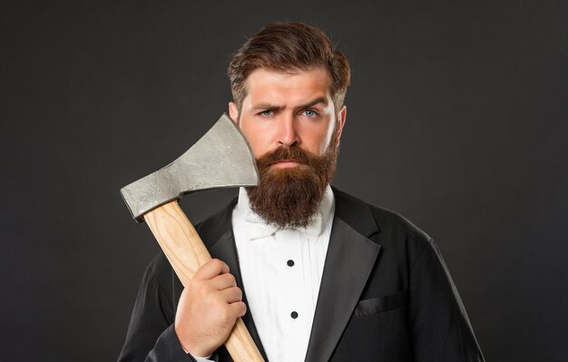
M 119 361 L 230 361 L 238 317 L 271 362 L 484 360 L 434 241 L 329 186 L 349 74 L 307 24 L 269 24 L 232 57 L 260 185 L 197 226 L 215 259 L 185 289 L 152 260 Z

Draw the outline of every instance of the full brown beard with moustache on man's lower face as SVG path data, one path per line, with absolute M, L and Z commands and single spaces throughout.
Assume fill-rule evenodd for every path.
M 289 168 L 274 166 L 278 161 L 297 161 Z M 280 147 L 257 160 L 260 182 L 247 192 L 250 208 L 267 223 L 279 228 L 305 228 L 318 212 L 338 161 L 338 137 L 321 156 L 297 146 Z

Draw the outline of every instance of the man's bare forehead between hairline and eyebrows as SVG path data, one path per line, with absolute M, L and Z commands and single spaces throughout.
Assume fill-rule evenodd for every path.
M 259 68 L 249 74 L 245 89 L 245 103 L 295 103 L 311 97 L 330 99 L 331 76 L 323 67 L 289 72 Z

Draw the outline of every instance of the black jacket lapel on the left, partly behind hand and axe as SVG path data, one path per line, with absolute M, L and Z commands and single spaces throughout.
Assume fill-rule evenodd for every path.
M 230 273 L 237 279 L 237 285 L 242 290 L 243 301 L 248 306 L 246 291 L 244 290 L 242 277 L 240 276 L 239 256 L 232 233 L 231 216 L 235 203 L 236 200 L 230 202 L 225 209 L 220 210 L 219 213 L 212 216 L 210 219 L 204 220 L 200 224 L 198 232 L 205 246 L 209 249 L 211 257 L 221 259 L 227 263 Z M 262 347 L 262 343 L 260 342 L 259 332 L 252 319 L 252 314 L 250 312 L 245 314 L 242 321 L 247 326 L 247 329 L 249 329 L 250 337 L 252 337 L 259 348 L 260 354 L 264 360 L 268 361 L 264 347 Z

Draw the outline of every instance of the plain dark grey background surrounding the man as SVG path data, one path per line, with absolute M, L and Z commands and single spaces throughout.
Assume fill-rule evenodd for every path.
M 491 361 L 568 356 L 563 1 L 2 2 L 0 357 L 114 360 L 158 251 L 119 189 L 226 109 L 229 56 L 317 24 L 352 85 L 335 184 L 433 236 Z M 192 220 L 233 191 L 191 195 Z

